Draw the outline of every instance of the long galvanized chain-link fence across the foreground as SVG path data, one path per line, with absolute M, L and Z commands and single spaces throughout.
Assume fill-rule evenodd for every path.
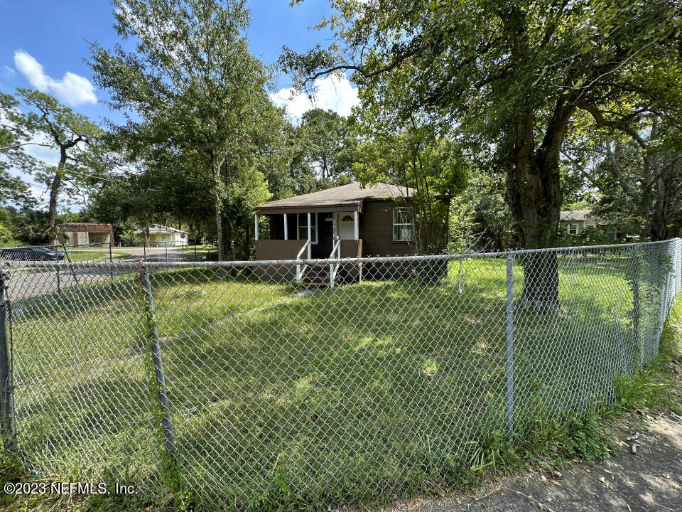
M 615 400 L 658 353 L 681 255 L 10 266 L 4 437 L 45 479 L 200 510 L 400 495 Z

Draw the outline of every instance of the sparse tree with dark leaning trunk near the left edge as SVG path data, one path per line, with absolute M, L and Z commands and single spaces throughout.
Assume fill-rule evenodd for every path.
M 57 221 L 57 203 L 63 188 L 70 194 L 82 186 L 92 184 L 93 178 L 101 174 L 106 161 L 98 142 L 104 132 L 82 114 L 61 105 L 54 97 L 36 90 L 19 89 L 23 102 L 37 112 L 26 115 L 26 129 L 59 151 L 56 167 L 38 166 L 36 174 L 45 181 L 50 191 L 48 203 L 48 228 L 54 229 Z

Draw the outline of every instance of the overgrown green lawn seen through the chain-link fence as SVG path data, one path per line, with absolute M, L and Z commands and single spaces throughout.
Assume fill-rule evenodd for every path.
M 307 295 L 247 274 L 153 274 L 179 475 L 193 489 L 185 503 L 369 503 L 605 457 L 598 420 L 665 393 L 646 380 L 657 366 L 615 378 L 637 356 L 627 269 L 561 260 L 561 309 L 520 308 L 515 269 L 511 437 L 504 260 L 450 265 L 438 285 L 386 279 Z M 15 304 L 29 469 L 160 488 L 144 300 L 117 277 Z

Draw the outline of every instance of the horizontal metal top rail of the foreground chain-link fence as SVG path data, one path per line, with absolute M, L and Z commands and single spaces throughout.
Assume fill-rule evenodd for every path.
M 129 260 L 126 262 L 66 262 L 66 261 L 28 261 L 22 262 L 24 268 L 124 268 L 124 269 L 141 269 L 141 268 L 205 268 L 205 267 L 264 267 L 268 265 L 329 265 L 334 263 L 391 263 L 391 262 L 420 262 L 420 261 L 453 261 L 453 260 L 471 260 L 475 258 L 492 258 L 492 257 L 508 257 L 516 255 L 541 254 L 545 252 L 556 253 L 561 255 L 568 255 L 575 252 L 589 252 L 593 250 L 605 249 L 624 249 L 629 247 L 651 247 L 655 245 L 666 244 L 672 241 L 680 240 L 673 238 L 671 240 L 661 240 L 658 242 L 633 242 L 625 244 L 611 244 L 611 245 L 582 245 L 577 247 L 546 247 L 543 249 L 522 249 L 522 250 L 507 250 L 497 252 L 462 252 L 460 254 L 450 255 L 405 255 L 405 256 L 372 256 L 372 257 L 338 257 L 338 258 L 318 258 L 310 260 L 251 260 L 251 261 L 223 261 L 223 262 L 153 262 L 147 261 L 143 257 L 136 260 Z M 10 265 L 10 262 L 6 262 Z

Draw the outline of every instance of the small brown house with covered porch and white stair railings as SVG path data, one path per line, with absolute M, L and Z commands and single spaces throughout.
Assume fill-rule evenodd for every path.
M 412 195 L 411 188 L 386 183 L 350 183 L 265 203 L 256 208 L 255 259 L 294 260 L 301 250 L 302 258 L 328 258 L 335 237 L 340 257 L 412 254 Z M 259 237 L 259 215 L 269 221 L 266 240 Z

